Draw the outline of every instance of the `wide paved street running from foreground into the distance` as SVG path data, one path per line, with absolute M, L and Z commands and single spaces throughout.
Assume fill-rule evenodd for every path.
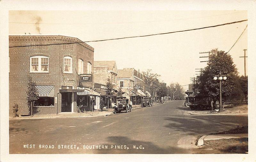
M 183 103 L 169 101 L 107 117 L 10 120 L 10 153 L 220 153 L 199 149 L 197 137 L 248 125 L 246 115 L 189 115 Z

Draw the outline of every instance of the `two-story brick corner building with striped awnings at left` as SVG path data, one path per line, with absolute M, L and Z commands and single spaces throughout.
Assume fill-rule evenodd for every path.
M 9 36 L 9 46 L 10 116 L 14 101 L 19 104 L 20 115 L 31 114 L 26 101 L 28 77 L 36 82 L 39 96 L 33 114 L 77 112 L 79 93 L 85 93 L 81 95 L 89 102 L 88 94 L 93 88 L 94 49 L 91 46 L 61 35 Z

